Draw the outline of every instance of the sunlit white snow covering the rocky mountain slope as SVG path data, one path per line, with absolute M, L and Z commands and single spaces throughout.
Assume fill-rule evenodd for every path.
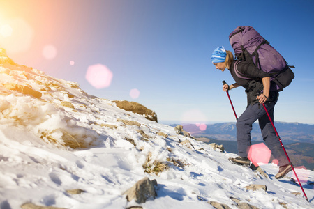
M 0 208 L 20 208 L 24 203 L 59 208 L 214 208 L 208 201 L 237 208 L 230 197 L 257 208 L 313 208 L 314 171 L 295 169 L 308 203 L 292 180 L 293 172 L 274 178 L 276 164 L 260 164 L 269 174 L 266 178 L 229 162 L 228 157 L 237 156 L 234 153 L 177 135 L 173 127 L 119 109 L 74 82 L 13 63 L 0 68 L 2 84 L 13 82 L 43 93 L 34 98 L 0 85 Z M 70 102 L 74 109 L 62 102 Z M 141 125 L 124 125 L 118 119 Z M 149 139 L 143 140 L 137 130 Z M 136 146 L 126 139 L 133 139 Z M 180 144 L 185 140 L 193 147 Z M 150 162 L 167 162 L 169 169 L 145 173 L 142 165 L 149 153 Z M 156 199 L 127 202 L 123 193 L 145 176 L 157 180 Z M 244 188 L 251 184 L 266 185 L 267 191 Z M 84 192 L 68 194 L 69 189 Z

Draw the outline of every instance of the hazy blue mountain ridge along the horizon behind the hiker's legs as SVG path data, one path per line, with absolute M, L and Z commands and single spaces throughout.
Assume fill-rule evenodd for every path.
M 172 124 L 170 126 L 175 127 L 179 124 Z M 190 132 L 193 137 L 208 137 L 217 140 L 236 141 L 237 128 L 236 123 L 215 123 L 207 124 L 206 130 L 200 130 L 195 124 L 181 124 L 184 130 Z M 306 142 L 314 143 L 314 125 L 304 123 L 286 123 L 275 121 L 274 123 L 279 136 L 285 144 L 293 142 Z M 262 141 L 260 134 L 260 127 L 258 123 L 253 124 L 253 130 L 251 132 L 253 141 Z

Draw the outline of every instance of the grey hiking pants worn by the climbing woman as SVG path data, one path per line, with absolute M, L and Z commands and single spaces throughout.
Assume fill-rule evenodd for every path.
M 277 100 L 265 103 L 265 107 L 272 121 L 274 121 L 274 106 L 276 102 Z M 269 150 L 271 150 L 271 154 L 274 158 L 278 160 L 278 166 L 289 164 L 285 152 L 281 147 L 281 143 L 276 136 L 274 127 L 271 125 L 264 107 L 259 103 L 248 105 L 237 121 L 237 145 L 239 156 L 248 157 L 248 150 L 251 146 L 252 125 L 257 119 L 260 124 L 264 143 Z

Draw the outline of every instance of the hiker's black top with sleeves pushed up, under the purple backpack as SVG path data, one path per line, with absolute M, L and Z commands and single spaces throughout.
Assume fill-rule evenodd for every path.
M 248 105 L 255 104 L 258 102 L 256 100 L 257 95 L 262 92 L 264 86 L 262 83 L 263 77 L 270 77 L 269 73 L 260 70 L 259 68 L 255 68 L 253 65 L 246 61 L 241 61 L 237 64 L 237 70 L 241 73 L 241 75 L 246 75 L 246 77 L 250 77 L 251 79 L 243 79 L 237 76 L 234 72 L 234 64 L 239 61 L 233 61 L 230 65 L 230 73 L 234 79 L 234 81 L 239 84 L 240 86 L 246 89 L 246 94 L 248 98 Z M 271 85 L 274 85 L 271 82 Z M 270 91 L 269 98 L 267 102 L 274 102 L 278 98 L 277 91 Z

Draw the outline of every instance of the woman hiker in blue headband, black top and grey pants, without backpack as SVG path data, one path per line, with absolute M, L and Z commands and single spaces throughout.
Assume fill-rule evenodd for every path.
M 283 178 L 288 172 L 292 171 L 292 166 L 285 156 L 281 143 L 276 136 L 276 132 L 269 121 L 266 111 L 260 104 L 264 104 L 271 120 L 274 121 L 274 106 L 278 99 L 278 91 L 271 90 L 270 75 L 246 61 L 234 61 L 232 52 L 218 47 L 211 56 L 211 62 L 216 69 L 225 71 L 227 68 L 235 83 L 232 85 L 224 84 L 223 91 L 230 91 L 233 88 L 242 86 L 245 88 L 248 106 L 237 120 L 237 146 L 238 157 L 230 157 L 229 160 L 237 164 L 250 164 L 248 160 L 248 150 L 251 146 L 252 124 L 258 119 L 264 143 L 271 150 L 272 155 L 278 160 L 279 171 L 275 178 Z M 242 79 L 234 72 L 234 65 L 241 75 L 251 79 Z M 238 74 L 239 75 L 239 74 Z

